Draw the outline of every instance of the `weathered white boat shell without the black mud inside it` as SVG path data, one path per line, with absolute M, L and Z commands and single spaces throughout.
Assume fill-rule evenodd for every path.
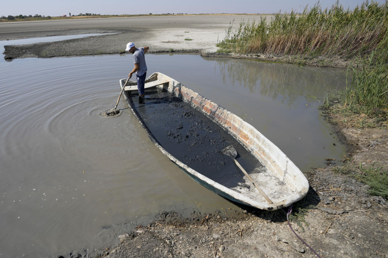
M 153 73 L 146 80 L 146 83 L 156 80 L 167 81 L 161 85 L 155 86 L 156 89 L 169 92 L 171 95 L 182 99 L 191 108 L 201 112 L 237 140 L 252 157 L 260 161 L 262 167 L 250 171 L 249 174 L 259 185 L 262 185 L 263 191 L 265 191 L 271 200 L 273 199 L 273 203 L 268 203 L 254 187 L 250 187 L 252 186 L 251 183 L 244 176 L 241 176 L 240 180 L 242 181 L 238 184 L 230 186 L 230 182 L 228 183 L 211 178 L 211 176 L 206 175 L 203 171 L 198 172 L 198 169 L 193 169 L 190 164 L 185 162 L 182 158 L 177 158 L 175 157 L 177 156 L 176 154 L 175 156 L 171 154 L 172 149 L 166 150 L 165 147 L 163 147 L 166 146 L 166 144 L 161 144 L 163 139 L 159 136 L 156 137 L 155 132 L 152 133 L 149 130 L 147 123 L 143 120 L 142 115 L 139 113 L 139 107 L 137 107 L 133 101 L 136 93 L 124 91 L 124 96 L 132 113 L 140 121 L 140 124 L 146 130 L 151 141 L 161 150 L 161 152 L 163 152 L 163 154 L 184 170 L 192 179 L 220 196 L 265 210 L 276 210 L 289 206 L 307 194 L 309 186 L 303 173 L 301 173 L 279 148 L 265 138 L 253 126 L 249 125 L 230 111 L 227 111 L 216 103 L 206 99 L 191 89 L 188 89 L 176 80 L 163 75 L 162 73 Z M 125 79 L 120 80 L 121 87 L 123 87 L 124 83 Z M 128 82 L 128 84 L 135 85 L 136 82 Z M 239 152 L 242 152 L 242 150 L 240 149 Z M 230 167 L 228 169 L 230 169 Z M 223 172 L 221 171 L 221 173 Z

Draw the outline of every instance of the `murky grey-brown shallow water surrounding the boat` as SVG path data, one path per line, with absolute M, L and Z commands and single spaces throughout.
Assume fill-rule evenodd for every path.
M 148 75 L 165 73 L 237 114 L 303 173 L 342 159 L 317 107 L 345 84 L 345 70 L 183 54 L 146 60 Z M 123 97 L 121 116 L 101 115 L 132 68 L 125 54 L 0 61 L 1 257 L 93 254 L 163 210 L 241 210 L 165 157 Z

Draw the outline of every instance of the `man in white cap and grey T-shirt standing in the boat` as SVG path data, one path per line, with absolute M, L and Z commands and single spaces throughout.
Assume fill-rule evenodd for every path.
M 132 42 L 126 44 L 125 51 L 129 51 L 133 54 L 133 67 L 132 72 L 129 73 L 129 78 L 136 72 L 137 90 L 139 91 L 139 104 L 144 103 L 144 81 L 147 74 L 147 65 L 145 64 L 144 54 L 149 50 L 148 46 L 142 48 L 136 48 Z

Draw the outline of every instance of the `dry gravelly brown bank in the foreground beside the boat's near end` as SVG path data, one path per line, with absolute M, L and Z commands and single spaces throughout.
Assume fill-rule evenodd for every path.
M 333 125 L 348 147 L 352 162 L 387 163 L 388 130 L 356 130 Z M 371 145 L 379 141 L 378 145 Z M 384 151 L 377 150 L 385 149 Z M 361 154 L 361 155 L 360 155 Z M 310 190 L 294 203 L 291 225 L 322 257 L 388 257 L 388 203 L 367 193 L 368 185 L 316 168 L 308 175 Z M 295 208 L 296 207 L 296 208 Z M 100 257 L 316 257 L 289 229 L 286 212 L 244 207 L 230 215 L 194 213 L 183 218 L 163 212 L 147 225 L 118 236 L 118 246 L 102 247 Z M 296 212 L 296 213 L 295 213 Z M 72 257 L 72 256 L 69 256 Z M 73 256 L 77 257 L 77 256 Z

